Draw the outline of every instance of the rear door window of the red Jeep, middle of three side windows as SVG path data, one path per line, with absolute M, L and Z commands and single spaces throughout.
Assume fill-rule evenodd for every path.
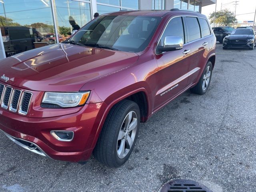
M 200 27 L 196 17 L 185 17 L 188 42 L 201 38 Z

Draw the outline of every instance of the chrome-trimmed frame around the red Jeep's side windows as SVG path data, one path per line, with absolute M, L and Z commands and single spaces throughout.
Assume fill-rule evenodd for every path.
M 163 53 L 157 54 L 157 53 L 156 53 L 156 50 L 157 50 L 158 44 L 159 44 L 159 42 L 160 42 L 160 40 L 161 40 L 161 38 L 162 38 L 162 36 L 163 36 L 163 34 L 164 34 L 164 31 L 165 31 L 166 28 L 167 28 L 167 25 L 169 24 L 169 22 L 170 22 L 173 18 L 176 18 L 176 17 L 182 17 L 182 23 L 183 23 L 184 35 L 185 35 L 185 36 L 184 36 L 185 42 L 184 42 L 183 46 L 184 46 L 184 45 L 188 45 L 188 44 L 190 44 L 190 43 L 192 43 L 192 42 L 195 42 L 195 41 L 204 39 L 204 38 L 206 38 L 206 37 L 208 37 L 208 36 L 211 36 L 211 35 L 213 34 L 213 29 L 209 26 L 208 20 L 207 20 L 206 18 L 199 17 L 199 16 L 195 16 L 195 15 L 179 15 L 179 16 L 173 16 L 173 17 L 171 16 L 171 18 L 169 18 L 168 22 L 167 22 L 166 25 L 164 26 L 164 30 L 162 30 L 161 34 L 158 36 L 158 40 L 157 40 L 156 46 L 155 46 L 155 48 L 154 48 L 154 49 L 155 49 L 154 52 L 155 52 L 156 55 L 160 55 L 160 54 L 163 54 L 163 53 L 164 53 L 164 52 L 163 52 Z M 201 36 L 201 38 L 196 39 L 196 40 L 193 40 L 193 41 L 190 41 L 190 42 L 186 42 L 188 36 L 187 36 L 187 26 L 186 26 L 186 22 L 185 22 L 185 20 L 184 20 L 185 17 L 195 17 L 195 18 L 197 18 L 197 21 L 198 21 L 198 18 L 205 19 L 206 22 L 207 22 L 207 24 L 208 24 L 208 26 L 209 26 L 209 28 L 210 28 L 210 33 L 211 33 L 211 34 L 202 38 L 201 28 L 200 28 L 200 36 Z M 200 27 L 199 21 L 198 21 L 198 25 L 199 25 L 199 27 Z

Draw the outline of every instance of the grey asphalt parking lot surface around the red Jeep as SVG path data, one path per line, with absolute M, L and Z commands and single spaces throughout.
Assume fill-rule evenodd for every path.
M 222 50 L 208 92 L 185 92 L 141 124 L 120 168 L 26 151 L 0 133 L 0 192 L 157 192 L 173 178 L 213 192 L 256 189 L 256 50 Z

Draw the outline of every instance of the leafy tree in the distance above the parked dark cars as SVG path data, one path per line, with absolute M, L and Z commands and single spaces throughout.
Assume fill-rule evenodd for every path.
M 213 24 L 214 23 L 214 12 L 212 12 L 210 14 L 209 19 L 210 19 L 210 23 Z M 215 19 L 216 24 L 228 26 L 228 25 L 236 23 L 236 22 L 237 22 L 237 19 L 233 12 L 231 12 L 227 9 L 216 12 L 216 19 Z

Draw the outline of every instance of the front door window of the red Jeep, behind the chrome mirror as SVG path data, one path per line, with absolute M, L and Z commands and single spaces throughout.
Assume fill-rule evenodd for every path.
M 166 36 L 178 36 L 181 37 L 184 40 L 184 28 L 183 28 L 183 22 L 181 17 L 175 17 L 170 20 L 170 22 L 167 24 L 164 33 L 161 37 L 161 40 L 158 44 L 158 46 L 164 46 L 164 38 Z

